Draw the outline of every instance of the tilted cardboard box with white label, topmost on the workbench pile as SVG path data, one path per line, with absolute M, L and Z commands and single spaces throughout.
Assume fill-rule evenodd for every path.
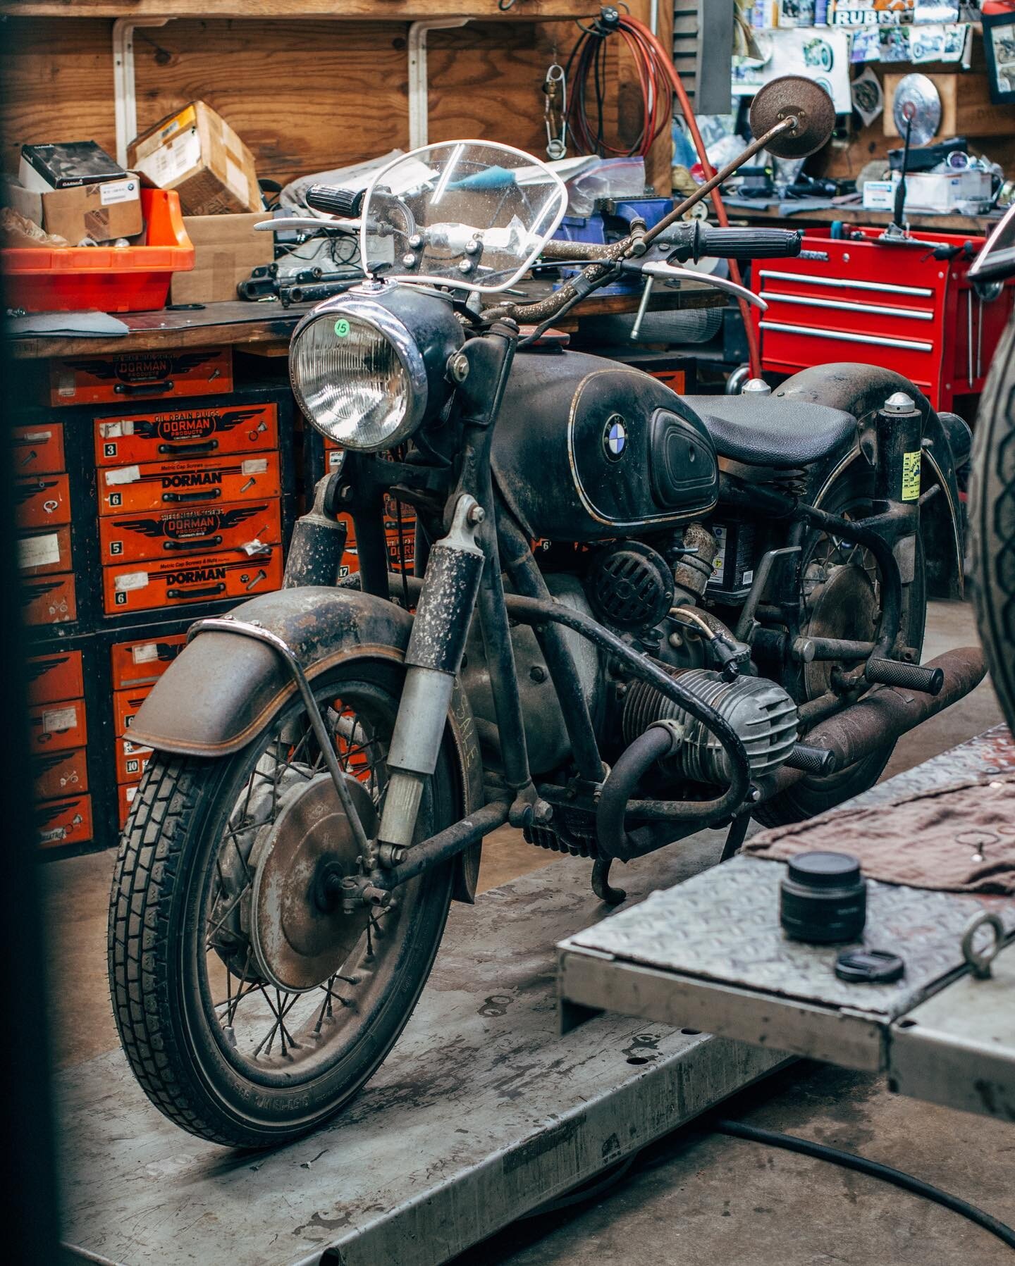
M 253 154 L 204 101 L 191 101 L 137 137 L 128 163 L 157 189 L 175 189 L 186 215 L 264 206 Z

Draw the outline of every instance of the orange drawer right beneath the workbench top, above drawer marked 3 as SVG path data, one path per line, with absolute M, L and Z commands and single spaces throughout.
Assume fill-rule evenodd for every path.
M 54 405 L 220 395 L 232 389 L 233 362 L 228 347 L 122 352 L 119 356 L 49 362 L 49 400 Z

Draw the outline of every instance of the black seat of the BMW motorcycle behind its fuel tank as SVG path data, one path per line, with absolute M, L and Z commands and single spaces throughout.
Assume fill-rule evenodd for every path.
M 745 466 L 807 466 L 857 436 L 852 413 L 806 400 L 751 392 L 683 399 L 708 428 L 720 457 Z

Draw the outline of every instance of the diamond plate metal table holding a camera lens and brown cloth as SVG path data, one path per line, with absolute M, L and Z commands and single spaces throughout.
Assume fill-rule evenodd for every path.
M 1015 742 L 999 725 L 849 806 L 1011 770 Z M 570 936 L 558 946 L 561 1027 L 603 1010 L 693 1025 L 760 1048 L 884 1070 L 903 1093 L 1015 1120 L 1015 951 L 999 956 L 993 981 L 981 982 L 968 977 L 961 950 L 969 919 L 985 908 L 1001 917 L 1006 936 L 1015 933 L 1015 901 L 869 881 L 863 943 L 901 955 L 906 974 L 893 985 L 849 985 L 834 974 L 841 947 L 783 936 L 784 872 L 782 862 L 734 857 Z M 953 994 L 961 1023 L 948 1022 Z M 949 1086 L 955 1079 L 962 1091 Z

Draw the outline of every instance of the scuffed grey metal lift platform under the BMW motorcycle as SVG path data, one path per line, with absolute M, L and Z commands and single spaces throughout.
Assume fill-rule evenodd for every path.
M 721 843 L 703 832 L 627 867 L 629 905 Z M 555 942 L 606 913 L 578 860 L 452 906 L 388 1061 L 328 1127 L 274 1152 L 184 1133 L 119 1050 L 67 1070 L 63 1239 L 122 1266 L 437 1266 L 784 1062 L 679 1020 L 604 1015 L 561 1037 Z

